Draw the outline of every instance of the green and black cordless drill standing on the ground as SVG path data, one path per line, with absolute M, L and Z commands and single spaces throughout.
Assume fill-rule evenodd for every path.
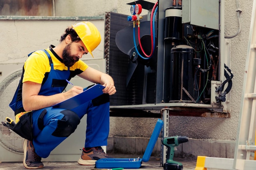
M 179 144 L 189 141 L 188 137 L 185 136 L 173 136 L 165 137 L 162 144 L 167 147 L 166 163 L 164 163 L 164 170 L 182 170 L 183 165 L 180 162 L 173 161 L 174 147 L 179 146 Z

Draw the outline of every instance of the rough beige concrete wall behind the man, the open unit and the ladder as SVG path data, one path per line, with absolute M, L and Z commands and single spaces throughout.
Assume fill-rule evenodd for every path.
M 156 2 L 148 0 L 150 2 Z M 122 14 L 130 14 L 130 6 L 126 3 L 132 0 L 55 0 L 56 16 L 92 16 L 102 17 L 106 11 L 115 11 Z M 234 148 L 238 130 L 238 118 L 240 101 L 243 87 L 243 76 L 245 60 L 247 57 L 249 27 L 252 13 L 253 0 L 239 1 L 242 9 L 240 14 L 242 30 L 238 36 L 228 41 L 231 43 L 230 69 L 234 74 L 233 87 L 231 89 L 231 117 L 230 118 L 205 118 L 205 117 L 169 117 L 169 135 L 185 135 L 193 138 L 195 146 L 208 147 L 211 141 L 220 140 L 232 145 L 226 147 Z M 233 35 L 238 30 L 238 19 L 236 13 L 236 2 L 225 0 L 225 35 Z M 66 26 L 79 22 L 77 20 L 0 20 L 2 31 L 0 31 L 0 63 L 24 62 L 27 53 L 47 48 L 49 44 L 58 44 L 60 35 Z M 103 36 L 104 21 L 92 20 L 99 28 Z M 103 42 L 94 51 L 94 56 L 103 57 Z M 223 56 L 222 56 L 223 57 Z M 90 58 L 90 56 L 86 56 Z M 128 118 L 110 117 L 111 137 L 150 137 L 156 118 Z M 199 142 L 199 141 L 200 142 Z M 191 142 L 183 144 L 186 147 Z M 193 149 L 193 147 L 191 148 Z M 216 148 L 217 149 L 217 148 Z M 187 151 L 188 155 L 210 156 L 210 152 L 204 149 L 195 152 Z M 214 148 L 213 148 L 214 150 Z M 231 157 L 222 154 L 214 154 L 216 157 Z M 184 151 L 186 152 L 186 151 Z M 230 156 L 231 155 L 231 156 Z

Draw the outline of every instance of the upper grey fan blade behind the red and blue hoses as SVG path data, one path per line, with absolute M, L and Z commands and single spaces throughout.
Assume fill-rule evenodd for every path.
M 155 26 L 156 25 L 157 24 L 155 24 Z M 141 22 L 140 24 L 140 36 L 143 37 L 144 35 L 150 35 L 150 21 L 144 21 L 144 22 Z M 139 41 L 138 41 L 137 27 L 135 27 L 135 41 L 136 41 L 136 44 L 138 45 Z M 130 55 L 130 51 L 132 50 L 132 48 L 134 48 L 133 25 L 128 26 L 117 32 L 116 44 L 120 51 L 122 51 L 127 55 Z

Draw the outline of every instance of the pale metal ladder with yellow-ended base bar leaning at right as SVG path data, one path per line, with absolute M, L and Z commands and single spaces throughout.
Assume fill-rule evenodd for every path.
M 195 170 L 256 170 L 256 1 L 253 2 L 234 159 L 198 156 Z

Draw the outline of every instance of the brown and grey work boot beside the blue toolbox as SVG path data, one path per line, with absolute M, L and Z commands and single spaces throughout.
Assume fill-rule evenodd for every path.
M 83 148 L 82 155 L 77 163 L 80 165 L 95 165 L 95 162 L 101 158 L 110 158 L 101 146 L 90 148 L 89 150 L 85 150 L 85 148 Z

